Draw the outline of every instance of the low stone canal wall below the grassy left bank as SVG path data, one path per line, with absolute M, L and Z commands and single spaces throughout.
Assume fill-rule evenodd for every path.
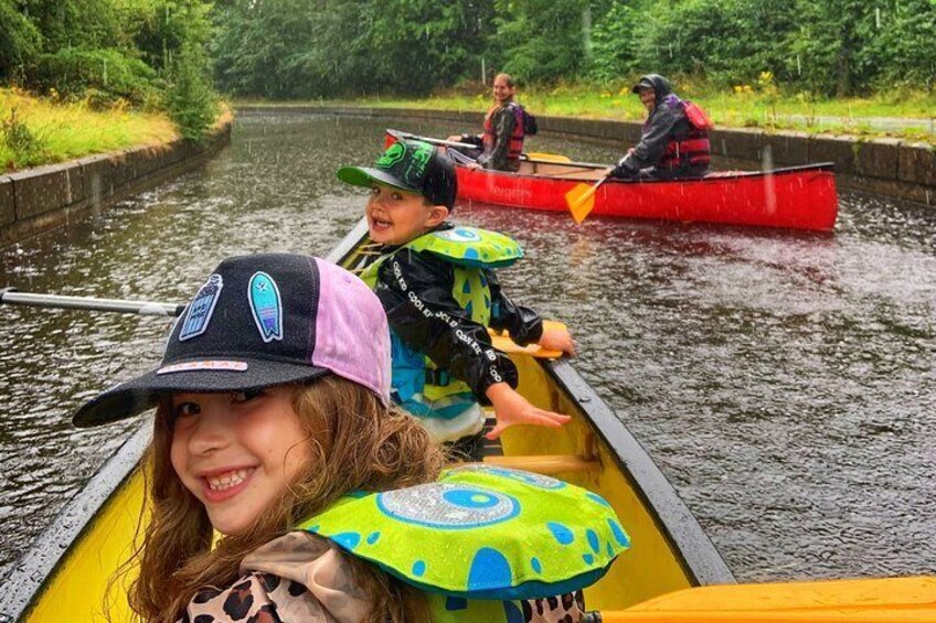
M 179 139 L 163 146 L 2 174 L 0 247 L 98 213 L 134 193 L 194 169 L 230 140 L 231 121 L 227 121 L 199 144 Z

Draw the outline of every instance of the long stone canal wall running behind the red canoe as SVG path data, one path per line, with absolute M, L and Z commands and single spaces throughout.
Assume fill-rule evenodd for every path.
M 331 106 L 242 106 L 238 111 L 308 111 L 386 118 L 391 127 L 418 133 L 405 127 L 406 120 L 453 121 L 453 132 L 480 128 L 478 111 L 422 110 L 400 108 L 354 108 Z M 573 119 L 536 116 L 540 132 L 563 135 L 618 146 L 621 155 L 640 139 L 640 123 L 610 119 Z M 715 164 L 720 168 L 795 167 L 833 162 L 839 185 L 936 206 L 936 148 L 897 139 L 864 140 L 854 137 L 724 129 L 711 132 Z

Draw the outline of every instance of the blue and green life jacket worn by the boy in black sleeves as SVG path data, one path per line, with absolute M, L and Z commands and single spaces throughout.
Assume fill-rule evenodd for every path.
M 454 267 L 451 296 L 471 320 L 490 325 L 491 289 L 485 269 L 512 265 L 523 257 L 523 249 L 512 238 L 476 227 L 454 227 L 432 232 L 379 258 L 361 273 L 361 279 L 376 288 L 381 265 L 402 249 L 429 253 Z M 393 374 L 391 386 L 401 406 L 417 417 L 451 419 L 477 402 L 471 388 L 449 376 L 432 359 L 411 348 L 391 330 Z

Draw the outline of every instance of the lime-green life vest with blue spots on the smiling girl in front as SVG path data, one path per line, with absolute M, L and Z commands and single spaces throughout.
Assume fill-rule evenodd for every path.
M 297 528 L 426 591 L 436 622 L 522 621 L 518 600 L 587 587 L 630 547 L 599 495 L 482 465 L 343 497 Z

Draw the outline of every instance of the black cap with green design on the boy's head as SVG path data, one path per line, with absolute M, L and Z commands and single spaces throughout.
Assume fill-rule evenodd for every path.
M 383 152 L 373 168 L 342 167 L 338 179 L 355 186 L 381 182 L 419 193 L 433 205 L 451 210 L 458 194 L 455 167 L 437 148 L 427 142 L 400 140 Z

